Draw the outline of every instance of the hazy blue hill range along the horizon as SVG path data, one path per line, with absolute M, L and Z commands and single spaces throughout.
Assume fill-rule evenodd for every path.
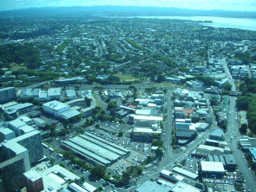
M 67 14 L 91 16 L 217 16 L 256 19 L 256 11 L 190 10 L 181 8 L 140 6 L 72 6 L 27 8 L 1 11 L 0 17 L 49 17 Z

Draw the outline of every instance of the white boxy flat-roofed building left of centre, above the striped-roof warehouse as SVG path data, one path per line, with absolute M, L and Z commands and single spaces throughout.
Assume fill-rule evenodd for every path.
M 59 113 L 64 112 L 69 109 L 70 109 L 69 105 L 59 102 L 59 101 L 56 101 L 56 100 L 43 104 L 44 112 L 52 114 L 54 117 L 57 117 L 57 115 Z

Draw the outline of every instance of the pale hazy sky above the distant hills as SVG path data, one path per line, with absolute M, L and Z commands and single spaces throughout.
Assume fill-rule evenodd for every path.
M 97 5 L 256 11 L 256 0 L 0 0 L 0 11 L 30 7 Z

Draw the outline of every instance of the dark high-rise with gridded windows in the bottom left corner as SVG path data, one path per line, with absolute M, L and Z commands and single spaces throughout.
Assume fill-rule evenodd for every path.
M 24 172 L 24 160 L 21 156 L 15 156 L 1 162 L 0 179 L 2 180 L 2 186 L 4 186 L 4 192 L 15 192 L 16 189 L 24 188 L 22 176 Z

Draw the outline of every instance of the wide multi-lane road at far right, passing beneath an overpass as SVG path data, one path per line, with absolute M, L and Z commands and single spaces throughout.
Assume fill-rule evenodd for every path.
M 223 63 L 223 69 L 225 70 L 229 83 L 232 85 L 232 91 L 236 91 L 236 84 L 234 79 L 232 78 L 228 67 L 226 63 L 226 59 L 224 58 L 222 60 Z M 228 125 L 227 125 L 227 132 L 226 132 L 226 139 L 227 142 L 230 144 L 230 150 L 233 151 L 234 158 L 236 159 L 237 168 L 240 172 L 242 172 L 242 175 L 244 176 L 244 179 L 246 182 L 244 185 L 246 185 L 245 188 L 250 189 L 251 191 L 254 191 L 255 186 L 255 175 L 253 174 L 252 170 L 248 170 L 248 164 L 245 163 L 244 159 L 242 158 L 242 151 L 238 150 L 238 140 L 235 135 L 239 135 L 239 116 L 238 112 L 236 111 L 236 97 L 230 96 L 230 104 L 229 109 L 230 114 L 228 115 Z

